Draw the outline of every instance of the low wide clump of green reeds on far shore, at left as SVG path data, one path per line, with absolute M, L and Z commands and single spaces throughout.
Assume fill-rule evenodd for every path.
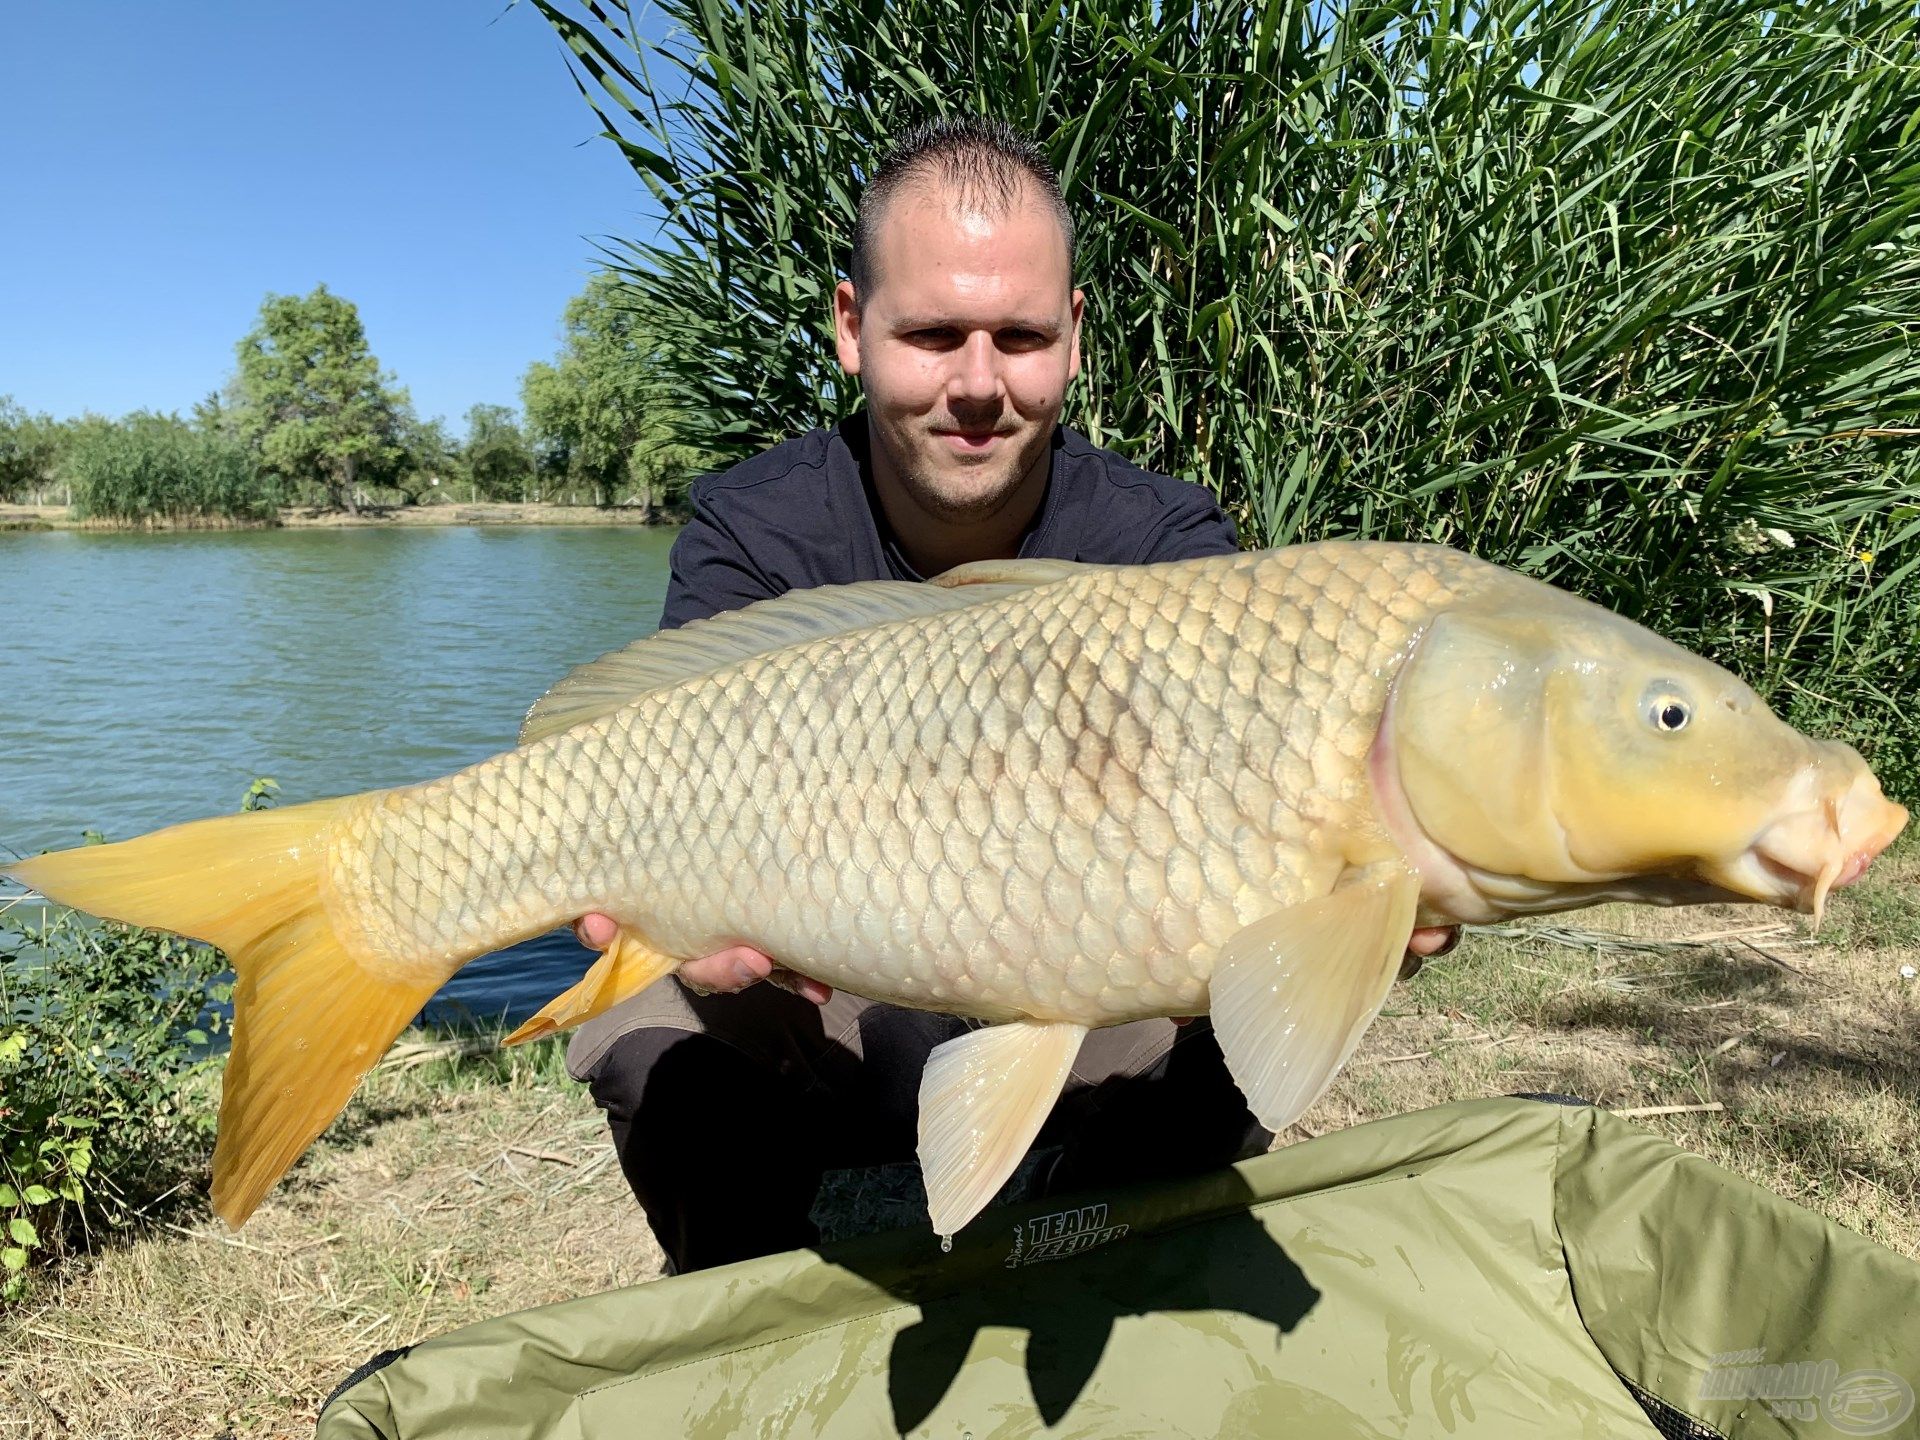
M 276 482 L 248 447 L 177 415 L 136 413 L 77 426 L 65 459 L 77 518 L 154 522 L 271 520 Z

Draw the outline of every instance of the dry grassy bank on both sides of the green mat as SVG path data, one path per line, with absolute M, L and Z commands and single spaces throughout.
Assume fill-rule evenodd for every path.
M 1757 908 L 1473 935 L 1398 987 L 1283 1137 L 1482 1094 L 1638 1114 L 1920 1260 L 1920 845 L 1818 941 Z M 204 1100 L 211 1102 L 211 1077 Z M 376 1350 L 659 1273 L 559 1044 L 413 1037 L 228 1235 L 196 1198 L 0 1311 L 0 1438 L 294 1436 Z

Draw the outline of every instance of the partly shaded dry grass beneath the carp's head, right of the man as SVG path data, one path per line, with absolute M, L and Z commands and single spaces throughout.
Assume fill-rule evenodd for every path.
M 1747 906 L 1515 931 L 1398 987 L 1283 1140 L 1482 1094 L 1703 1106 L 1636 1123 L 1920 1260 L 1920 845 L 1834 897 L 1818 943 Z

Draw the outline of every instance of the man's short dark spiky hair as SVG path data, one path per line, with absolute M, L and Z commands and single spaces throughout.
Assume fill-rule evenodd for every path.
M 960 115 L 916 125 L 879 157 L 874 179 L 860 192 L 852 225 L 852 263 L 847 278 L 864 305 L 874 282 L 874 232 L 893 196 L 914 182 L 933 180 L 960 192 L 962 202 L 1004 213 L 1031 184 L 1060 221 L 1068 242 L 1068 275 L 1073 273 L 1073 213 L 1060 194 L 1046 152 L 1033 136 L 1006 121 Z

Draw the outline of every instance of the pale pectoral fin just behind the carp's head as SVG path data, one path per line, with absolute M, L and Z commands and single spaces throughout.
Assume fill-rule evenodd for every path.
M 1413 933 L 1419 879 L 1348 885 L 1256 920 L 1213 962 L 1213 1035 L 1256 1119 L 1283 1131 L 1354 1054 Z

